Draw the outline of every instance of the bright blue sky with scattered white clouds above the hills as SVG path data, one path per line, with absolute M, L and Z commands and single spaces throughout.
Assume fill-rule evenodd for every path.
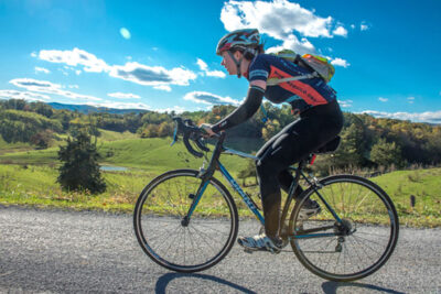
M 209 110 L 247 80 L 215 55 L 228 31 L 332 61 L 345 111 L 441 122 L 439 0 L 0 0 L 0 98 Z

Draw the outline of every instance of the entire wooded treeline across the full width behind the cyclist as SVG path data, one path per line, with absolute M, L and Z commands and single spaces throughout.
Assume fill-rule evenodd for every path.
M 293 120 L 291 108 L 265 104 L 267 119 L 258 111 L 247 122 L 228 130 L 228 137 L 262 138 L 268 140 Z M 195 123 L 215 123 L 235 109 L 233 106 L 215 106 L 212 111 L 184 112 L 180 116 Z M 0 100 L 0 133 L 7 142 L 31 142 L 47 146 L 54 133 L 67 133 L 77 128 L 93 126 L 117 132 L 129 131 L 140 138 L 168 137 L 173 133 L 172 117 L 175 113 L 112 115 L 55 110 L 43 102 Z M 410 121 L 376 119 L 368 115 L 345 112 L 342 144 L 332 155 L 320 156 L 315 168 L 405 167 L 410 164 L 438 165 L 441 163 L 441 126 Z

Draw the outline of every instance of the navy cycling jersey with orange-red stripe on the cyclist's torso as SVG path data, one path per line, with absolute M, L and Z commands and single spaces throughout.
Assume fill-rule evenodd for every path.
M 309 73 L 309 69 L 281 57 L 259 54 L 251 61 L 246 77 L 249 81 L 266 81 L 268 78 L 295 77 Z M 275 104 L 289 102 L 293 109 L 300 112 L 336 99 L 335 90 L 320 77 L 267 86 L 265 97 Z

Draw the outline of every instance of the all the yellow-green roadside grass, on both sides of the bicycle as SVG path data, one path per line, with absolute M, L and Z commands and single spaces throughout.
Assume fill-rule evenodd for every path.
M 30 205 L 36 207 L 57 207 L 68 209 L 89 209 L 131 213 L 143 187 L 157 172 L 130 170 L 128 172 L 104 172 L 107 190 L 100 195 L 87 192 L 65 192 L 56 183 L 57 170 L 36 165 L 0 165 L 0 204 Z M 220 175 L 215 174 L 218 179 Z M 441 168 L 398 171 L 372 178 L 392 198 L 401 226 L 441 227 Z M 412 178 L 412 179 L 409 179 Z M 225 181 L 222 179 L 222 182 Z M 254 179 L 248 179 L 248 184 Z M 240 183 L 241 184 L 241 183 Z M 228 185 L 239 215 L 251 217 L 251 213 Z M 245 190 L 258 203 L 258 187 L 250 185 Z M 171 189 L 171 193 L 173 189 Z M 416 196 L 411 206 L 410 195 Z M 209 203 L 209 202 L 208 202 Z M 158 207 L 168 205 L 158 204 Z M 258 203 L 258 205 L 260 205 Z M 204 206 L 206 214 L 224 215 L 216 202 Z M 220 209 L 220 210 L 219 210 Z M 162 209 L 163 210 L 163 209 Z M 373 219 L 374 216 L 358 216 L 359 219 Z

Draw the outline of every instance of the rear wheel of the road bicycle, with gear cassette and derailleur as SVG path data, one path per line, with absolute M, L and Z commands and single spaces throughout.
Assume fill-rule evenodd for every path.
M 397 211 L 389 196 L 373 182 L 353 175 L 330 176 L 302 197 L 289 222 L 291 247 L 314 274 L 337 282 L 358 280 L 381 268 L 394 252 Z M 322 210 L 302 220 L 300 209 L 306 199 L 318 202 Z

